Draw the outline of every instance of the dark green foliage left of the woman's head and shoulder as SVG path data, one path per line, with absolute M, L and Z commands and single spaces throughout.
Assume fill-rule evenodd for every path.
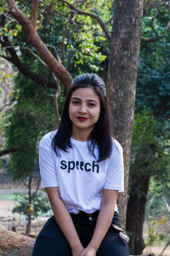
M 10 169 L 17 179 L 38 170 L 38 140 L 43 133 L 54 129 L 56 120 L 53 92 L 48 95 L 20 74 L 15 83 L 3 128 L 7 147 L 18 150 L 10 156 Z

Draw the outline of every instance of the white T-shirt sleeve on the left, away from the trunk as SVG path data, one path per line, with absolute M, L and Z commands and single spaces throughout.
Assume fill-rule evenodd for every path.
M 51 138 L 48 133 L 39 143 L 39 167 L 42 178 L 41 187 L 58 187 L 54 150 L 51 147 Z

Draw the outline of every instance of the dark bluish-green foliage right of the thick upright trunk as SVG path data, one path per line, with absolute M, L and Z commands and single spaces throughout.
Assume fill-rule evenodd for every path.
M 160 45 L 159 47 L 164 49 L 164 53 L 158 53 L 158 55 L 164 56 L 163 59 L 160 57 L 159 61 L 153 48 L 148 49 L 146 46 L 143 49 L 143 55 L 141 54 L 136 108 L 137 110 L 143 108 L 151 109 L 156 117 L 160 119 L 170 116 L 170 51 L 165 49 L 165 45 Z M 150 50 L 153 52 L 150 53 Z

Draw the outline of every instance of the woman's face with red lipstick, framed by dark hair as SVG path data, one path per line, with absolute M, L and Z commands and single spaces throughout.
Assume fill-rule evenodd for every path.
M 99 113 L 99 96 L 92 88 L 79 88 L 72 93 L 69 117 L 73 134 L 86 131 L 88 136 L 99 119 Z

